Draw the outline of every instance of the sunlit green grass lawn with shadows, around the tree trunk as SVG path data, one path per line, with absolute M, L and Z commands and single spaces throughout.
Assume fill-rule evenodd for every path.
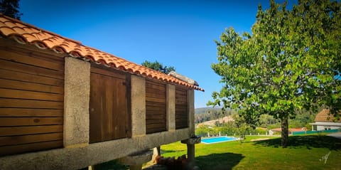
M 293 136 L 283 149 L 280 138 L 250 142 L 196 144 L 195 164 L 200 169 L 341 169 L 341 139 L 324 135 Z M 176 142 L 161 146 L 162 156 L 187 153 L 185 144 Z M 330 153 L 328 155 L 328 153 Z M 327 157 L 327 161 L 323 156 Z

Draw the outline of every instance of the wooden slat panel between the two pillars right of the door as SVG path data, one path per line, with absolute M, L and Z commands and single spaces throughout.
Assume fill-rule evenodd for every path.
M 146 133 L 167 130 L 166 84 L 146 80 Z

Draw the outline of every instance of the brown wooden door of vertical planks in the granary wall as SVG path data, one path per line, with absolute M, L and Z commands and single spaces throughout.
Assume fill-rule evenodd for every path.
M 131 137 L 130 75 L 92 63 L 90 143 Z

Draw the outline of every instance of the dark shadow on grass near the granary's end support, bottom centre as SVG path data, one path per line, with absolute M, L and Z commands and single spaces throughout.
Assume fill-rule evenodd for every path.
M 244 159 L 242 154 L 224 153 L 224 154 L 209 154 L 206 156 L 195 157 L 195 164 L 200 169 L 232 169 L 234 166 Z

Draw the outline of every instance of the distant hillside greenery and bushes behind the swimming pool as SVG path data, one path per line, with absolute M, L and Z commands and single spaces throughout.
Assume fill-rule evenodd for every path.
M 199 112 L 200 111 L 200 112 Z M 256 119 L 255 124 L 245 124 L 238 119 L 237 112 L 234 110 L 222 111 L 221 108 L 205 107 L 200 108 L 195 114 L 195 134 L 200 136 L 210 135 L 244 135 L 244 134 L 266 134 L 269 129 L 281 127 L 281 122 L 271 115 L 261 115 Z M 205 112 L 205 113 L 203 113 Z M 309 123 L 314 122 L 316 112 L 299 111 L 296 117 L 289 119 L 289 128 L 302 128 L 310 130 Z

